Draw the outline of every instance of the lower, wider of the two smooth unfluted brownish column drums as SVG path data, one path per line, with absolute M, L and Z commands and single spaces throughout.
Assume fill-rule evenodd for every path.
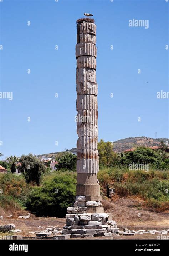
M 99 185 L 94 185 L 94 184 L 93 185 L 77 185 L 76 186 L 76 193 L 84 195 L 84 196 L 86 196 L 86 195 L 99 195 L 100 186 Z M 83 209 L 81 209 L 81 210 L 83 211 Z M 93 213 L 93 212 L 89 212 L 89 213 Z M 100 213 L 103 213 L 103 212 L 100 212 Z

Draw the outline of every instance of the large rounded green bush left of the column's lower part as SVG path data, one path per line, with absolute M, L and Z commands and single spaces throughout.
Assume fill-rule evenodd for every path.
M 63 217 L 76 195 L 76 173 L 54 172 L 35 186 L 26 206 L 37 216 Z

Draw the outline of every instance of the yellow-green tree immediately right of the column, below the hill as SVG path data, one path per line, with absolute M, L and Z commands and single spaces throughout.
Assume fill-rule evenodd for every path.
M 113 145 L 110 141 L 104 142 L 103 139 L 98 142 L 99 164 L 113 166 L 118 164 L 118 154 L 113 151 Z

